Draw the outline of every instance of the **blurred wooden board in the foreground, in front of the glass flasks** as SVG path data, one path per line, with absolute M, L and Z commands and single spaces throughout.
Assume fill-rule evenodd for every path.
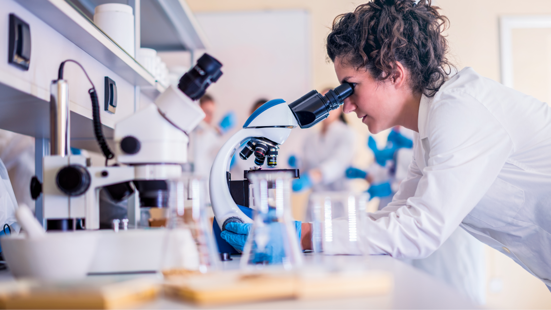
M 167 296 L 210 305 L 290 298 L 341 298 L 390 292 L 392 275 L 382 271 L 242 274 L 239 271 L 171 277 Z

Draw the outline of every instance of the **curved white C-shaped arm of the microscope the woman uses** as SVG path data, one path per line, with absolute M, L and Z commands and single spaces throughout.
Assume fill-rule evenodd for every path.
M 220 230 L 224 230 L 224 223 L 230 217 L 235 217 L 236 219 L 234 221 L 252 223 L 252 220 L 241 212 L 233 198 L 231 198 L 230 189 L 226 180 L 228 162 L 231 156 L 234 155 L 237 146 L 250 138 L 258 137 L 267 138 L 278 144 L 283 144 L 289 137 L 291 129 L 292 128 L 288 127 L 243 128 L 224 143 L 214 159 L 209 180 L 210 203 L 212 204 L 214 216 L 216 217 L 218 226 L 220 226 Z

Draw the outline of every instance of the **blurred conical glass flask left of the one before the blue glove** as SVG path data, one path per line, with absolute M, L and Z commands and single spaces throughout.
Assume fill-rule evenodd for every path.
M 188 175 L 167 183 L 169 215 L 161 271 L 166 276 L 218 269 L 218 249 L 206 210 L 206 182 Z

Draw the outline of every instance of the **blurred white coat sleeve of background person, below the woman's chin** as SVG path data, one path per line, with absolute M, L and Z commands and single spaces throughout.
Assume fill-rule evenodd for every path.
M 344 178 L 344 173 L 352 164 L 352 158 L 354 157 L 354 138 L 352 130 L 343 130 L 340 133 L 339 144 L 331 153 L 331 157 L 320 162 L 319 167 L 323 176 L 323 184 L 331 184 L 340 178 Z

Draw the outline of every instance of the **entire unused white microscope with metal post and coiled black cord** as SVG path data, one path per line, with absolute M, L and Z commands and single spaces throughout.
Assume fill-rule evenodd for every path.
M 65 62 L 64 62 L 65 63 Z M 63 65 L 58 80 L 52 83 L 51 155 L 44 157 L 44 219 L 48 230 L 97 230 L 100 224 L 99 191 L 106 187 L 112 196 L 122 198 L 139 193 L 141 206 L 164 207 L 168 203 L 165 180 L 182 175 L 187 162 L 188 133 L 205 117 L 194 100 L 222 75 L 222 64 L 204 54 L 195 67 L 180 79 L 178 88 L 170 86 L 143 110 L 115 126 L 116 160 L 123 166 L 91 167 L 80 155 L 70 155 L 67 81 Z M 91 83 L 91 81 L 90 81 Z M 95 89 L 94 132 L 107 159 L 115 156 L 105 143 L 99 121 Z M 31 185 L 33 196 L 40 194 Z

